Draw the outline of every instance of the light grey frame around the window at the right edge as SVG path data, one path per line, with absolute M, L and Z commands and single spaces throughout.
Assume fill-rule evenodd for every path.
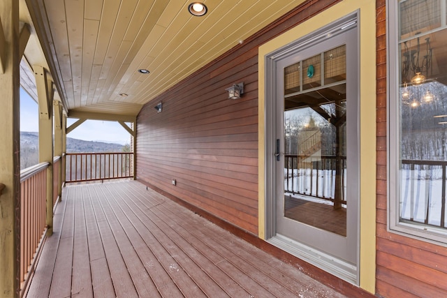
M 444 0 L 441 0 L 444 1 Z M 442 7 L 442 6 L 441 6 Z M 397 0 L 387 0 L 387 181 L 388 221 L 387 230 L 432 244 L 447 246 L 447 229 L 400 221 L 400 45 L 399 5 Z

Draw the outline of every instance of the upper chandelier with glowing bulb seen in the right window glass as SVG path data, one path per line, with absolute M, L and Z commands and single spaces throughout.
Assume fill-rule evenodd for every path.
M 408 41 L 404 42 L 404 52 L 402 53 L 402 83 L 409 82 L 408 75 L 412 75 L 411 84 L 422 84 L 426 77 L 432 77 L 432 74 L 429 74 L 432 71 L 433 50 L 430 45 L 430 37 L 425 38 L 425 52 L 422 53 L 420 52 L 419 38 L 417 38 L 416 50 L 410 50 L 407 43 Z

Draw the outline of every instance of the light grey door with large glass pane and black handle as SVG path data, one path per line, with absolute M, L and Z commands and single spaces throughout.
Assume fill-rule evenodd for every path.
M 272 242 L 356 281 L 359 232 L 356 21 L 274 64 Z M 335 268 L 335 269 L 333 269 Z

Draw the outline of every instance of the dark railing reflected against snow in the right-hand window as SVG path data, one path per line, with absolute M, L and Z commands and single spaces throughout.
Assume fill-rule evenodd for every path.
M 402 160 L 400 218 L 446 227 L 447 161 Z

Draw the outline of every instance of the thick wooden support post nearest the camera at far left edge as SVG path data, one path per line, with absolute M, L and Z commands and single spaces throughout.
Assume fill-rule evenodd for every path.
M 0 297 L 18 297 L 20 255 L 19 1 L 0 1 Z

